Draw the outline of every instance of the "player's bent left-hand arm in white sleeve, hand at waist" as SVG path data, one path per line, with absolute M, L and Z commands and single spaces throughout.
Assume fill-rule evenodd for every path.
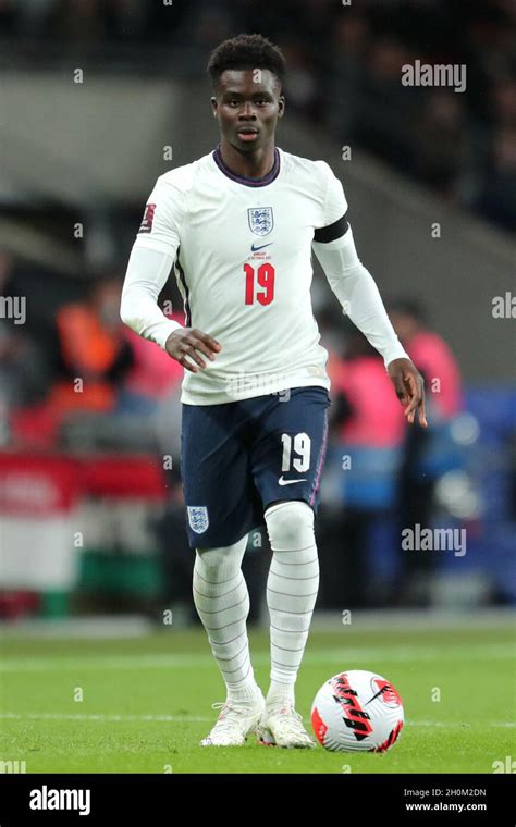
M 201 354 L 212 360 L 221 345 L 196 328 L 183 328 L 168 319 L 158 306 L 180 245 L 181 213 L 181 193 L 158 178 L 131 251 L 120 316 L 135 333 L 197 373 L 206 368 Z

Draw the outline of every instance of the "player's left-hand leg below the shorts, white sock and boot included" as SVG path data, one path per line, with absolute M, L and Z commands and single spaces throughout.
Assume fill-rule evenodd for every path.
M 226 687 L 226 701 L 202 746 L 243 744 L 263 712 L 247 639 L 249 595 L 242 572 L 247 536 L 230 546 L 196 550 L 194 601 Z

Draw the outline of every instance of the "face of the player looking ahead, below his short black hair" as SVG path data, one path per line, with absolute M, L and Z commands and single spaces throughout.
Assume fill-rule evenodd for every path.
M 285 99 L 280 91 L 279 79 L 268 69 L 225 70 L 217 97 L 211 98 L 222 137 L 242 152 L 263 148 L 283 116 Z

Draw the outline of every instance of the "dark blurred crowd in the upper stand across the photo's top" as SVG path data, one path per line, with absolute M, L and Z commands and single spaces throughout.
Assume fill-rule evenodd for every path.
M 174 13 L 170 13 L 173 5 Z M 281 42 L 288 106 L 443 198 L 516 229 L 516 8 L 512 0 L 1 0 L 3 61 L 98 55 L 198 71 L 235 32 Z M 309 33 L 309 36 L 307 36 Z M 188 44 L 183 54 L 184 45 Z M 400 84 L 414 63 L 465 64 L 467 94 Z M 2 60 L 0 58 L 0 60 Z

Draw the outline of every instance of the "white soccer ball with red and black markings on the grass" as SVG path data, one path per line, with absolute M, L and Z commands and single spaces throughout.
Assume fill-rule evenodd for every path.
M 392 683 L 361 669 L 327 680 L 311 706 L 316 738 L 331 752 L 386 752 L 403 721 L 403 702 Z

